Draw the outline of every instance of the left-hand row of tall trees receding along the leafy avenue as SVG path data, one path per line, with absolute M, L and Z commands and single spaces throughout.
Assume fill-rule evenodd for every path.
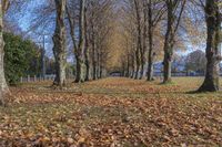
M 75 83 L 101 78 L 105 73 L 112 1 L 54 0 L 57 23 L 53 53 L 57 63 L 54 85 L 65 85 L 67 31 L 75 59 Z M 68 18 L 68 22 L 65 22 Z M 78 30 L 78 32 L 77 32 Z

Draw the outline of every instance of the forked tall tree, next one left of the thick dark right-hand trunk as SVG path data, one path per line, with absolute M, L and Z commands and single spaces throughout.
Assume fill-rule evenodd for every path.
M 165 0 L 168 24 L 164 41 L 163 83 L 171 82 L 171 62 L 173 55 L 175 34 L 182 18 L 186 0 Z

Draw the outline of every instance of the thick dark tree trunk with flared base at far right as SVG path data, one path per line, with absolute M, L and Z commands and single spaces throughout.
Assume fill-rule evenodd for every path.
M 205 21 L 208 27 L 206 41 L 206 73 L 205 80 L 199 92 L 216 92 L 220 88 L 220 10 L 216 0 L 206 0 L 205 2 Z

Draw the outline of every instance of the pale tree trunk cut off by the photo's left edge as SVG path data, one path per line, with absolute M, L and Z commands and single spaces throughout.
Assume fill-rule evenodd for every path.
M 9 1 L 3 0 L 0 3 L 0 105 L 4 105 L 3 96 L 9 93 L 9 87 L 4 77 L 4 41 L 3 41 L 3 15 Z

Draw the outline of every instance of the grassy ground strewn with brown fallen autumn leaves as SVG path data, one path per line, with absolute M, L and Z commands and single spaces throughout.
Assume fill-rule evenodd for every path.
M 50 82 L 11 87 L 0 147 L 222 146 L 222 93 L 189 93 L 201 83 L 109 77 L 63 91 Z

